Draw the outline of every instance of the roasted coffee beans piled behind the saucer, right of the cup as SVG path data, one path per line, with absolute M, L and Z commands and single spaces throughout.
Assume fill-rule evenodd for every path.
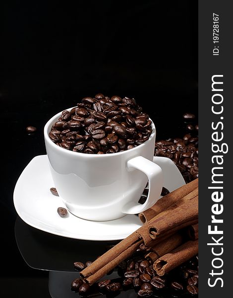
M 155 143 L 155 156 L 172 159 L 186 183 L 198 178 L 198 125 L 193 125 L 195 115 L 183 115 L 186 134 L 183 138 L 167 139 Z

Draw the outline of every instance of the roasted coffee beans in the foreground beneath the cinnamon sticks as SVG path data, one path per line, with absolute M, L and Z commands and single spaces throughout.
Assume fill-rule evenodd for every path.
M 105 280 L 89 286 L 82 279 L 76 278 L 71 283 L 71 290 L 80 296 L 98 296 L 101 294 L 114 294 L 133 289 L 139 297 L 189 297 L 198 295 L 198 257 L 171 271 L 166 276 L 158 276 L 150 260 L 144 258 L 148 251 L 138 249 L 129 259 L 121 262 L 115 270 L 119 275 L 117 279 Z M 81 271 L 91 262 L 83 264 L 75 262 L 76 270 Z

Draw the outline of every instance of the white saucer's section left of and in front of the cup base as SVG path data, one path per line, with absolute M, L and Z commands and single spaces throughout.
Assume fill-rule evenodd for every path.
M 72 214 L 60 218 L 57 209 L 65 206 L 50 192 L 51 187 L 54 182 L 47 155 L 34 157 L 14 189 L 14 206 L 25 223 L 52 234 L 84 240 L 123 239 L 142 225 L 135 215 L 109 222 L 85 221 Z

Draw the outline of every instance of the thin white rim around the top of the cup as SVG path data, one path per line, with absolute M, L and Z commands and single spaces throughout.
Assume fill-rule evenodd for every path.
M 76 106 L 74 107 L 71 107 L 71 108 L 68 108 L 68 109 L 65 109 L 66 111 L 70 111 L 72 108 L 75 108 Z M 91 158 L 91 157 L 94 157 L 94 156 L 99 156 L 98 158 L 106 158 L 106 156 L 118 156 L 118 155 L 121 155 L 121 154 L 126 154 L 126 152 L 133 152 L 133 151 L 136 151 L 138 148 L 142 148 L 143 146 L 146 146 L 147 143 L 149 143 L 151 141 L 151 139 L 156 136 L 156 128 L 155 128 L 155 124 L 154 122 L 151 120 L 151 118 L 149 118 L 151 120 L 151 127 L 152 127 L 152 133 L 149 137 L 149 140 L 147 140 L 146 142 L 144 142 L 143 144 L 140 144 L 132 149 L 128 149 L 128 150 L 124 150 L 124 151 L 121 151 L 121 152 L 115 152 L 115 153 L 111 153 L 111 154 L 97 154 L 97 153 L 94 153 L 94 154 L 89 154 L 89 153 L 82 153 L 82 152 L 74 152 L 74 151 L 71 151 L 71 150 L 67 150 L 67 149 L 64 149 L 64 148 L 61 148 L 59 147 L 58 145 L 56 145 L 49 137 L 49 126 L 53 123 L 53 122 L 56 122 L 56 119 L 59 118 L 59 116 L 61 115 L 61 113 L 65 110 L 62 110 L 60 112 L 58 112 L 56 115 L 54 115 L 52 118 L 50 118 L 47 123 L 45 124 L 44 126 L 44 138 L 45 140 L 56 150 L 60 151 L 62 150 L 62 152 L 64 154 L 74 154 L 73 156 L 85 156 L 88 158 Z M 61 152 L 61 151 L 60 151 Z

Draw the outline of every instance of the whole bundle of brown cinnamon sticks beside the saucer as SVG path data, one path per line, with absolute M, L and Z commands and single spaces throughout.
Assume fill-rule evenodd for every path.
M 162 197 L 139 214 L 144 223 L 134 233 L 80 272 L 93 285 L 130 257 L 140 245 L 158 275 L 164 275 L 198 253 L 198 178 Z

